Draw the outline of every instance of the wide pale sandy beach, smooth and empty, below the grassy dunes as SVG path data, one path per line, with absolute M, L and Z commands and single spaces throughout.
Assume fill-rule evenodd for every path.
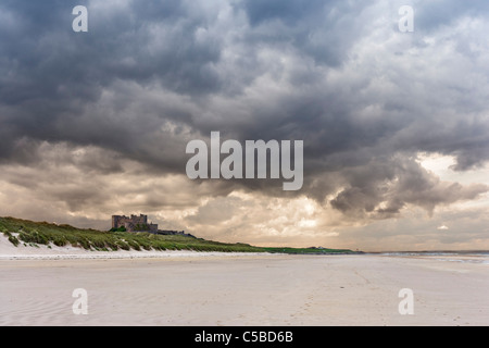
M 2 244 L 0 325 L 489 325 L 489 264 L 467 257 L 35 249 Z

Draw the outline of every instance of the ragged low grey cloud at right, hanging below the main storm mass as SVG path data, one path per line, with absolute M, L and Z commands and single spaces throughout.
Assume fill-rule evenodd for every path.
M 437 206 L 472 200 L 489 191 L 489 186 L 482 184 L 464 187 L 457 183 L 441 182 L 413 159 L 400 157 L 392 161 L 347 169 L 342 173 L 350 186 L 330 203 L 347 215 L 361 219 L 396 216 L 406 204 L 432 213 Z

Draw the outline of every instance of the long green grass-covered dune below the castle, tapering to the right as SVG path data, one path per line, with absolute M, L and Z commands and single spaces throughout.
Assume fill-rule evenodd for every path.
M 221 252 L 280 252 L 280 253 L 348 253 L 351 250 L 316 248 L 262 248 L 247 244 L 226 244 L 180 235 L 150 233 L 104 232 L 77 228 L 48 222 L 33 222 L 15 217 L 0 217 L 0 232 L 15 245 L 50 247 L 73 246 L 86 250 L 195 250 Z

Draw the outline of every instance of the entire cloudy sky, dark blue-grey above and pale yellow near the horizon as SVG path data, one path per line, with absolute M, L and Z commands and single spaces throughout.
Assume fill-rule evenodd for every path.
M 488 20 L 487 0 L 3 0 L 0 216 L 489 249 Z M 302 140 L 301 189 L 190 179 L 211 132 Z

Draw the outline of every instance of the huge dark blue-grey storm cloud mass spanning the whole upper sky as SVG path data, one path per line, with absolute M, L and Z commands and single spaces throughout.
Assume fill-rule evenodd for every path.
M 238 140 L 303 139 L 300 194 L 330 197 L 335 209 L 359 219 L 393 216 L 406 204 L 432 211 L 487 190 L 441 183 L 414 161 L 418 151 L 439 152 L 456 157 L 454 169 L 464 171 L 489 159 L 489 105 L 480 98 L 489 88 L 472 80 L 489 73 L 487 47 L 474 39 L 480 58 L 459 32 L 440 39 L 453 42 L 453 52 L 425 40 L 459 18 L 487 18 L 485 2 L 414 2 L 417 55 L 386 49 L 401 34 L 389 21 L 379 30 L 377 21 L 397 17 L 398 8 L 231 3 L 3 1 L 1 160 L 36 163 L 42 141 L 63 142 L 185 174 L 186 142 L 221 130 Z M 88 33 L 71 29 L 77 4 L 89 9 Z M 74 163 L 123 171 L 112 161 L 100 167 L 102 153 Z M 281 182 L 222 186 L 224 195 L 233 187 L 284 195 Z

